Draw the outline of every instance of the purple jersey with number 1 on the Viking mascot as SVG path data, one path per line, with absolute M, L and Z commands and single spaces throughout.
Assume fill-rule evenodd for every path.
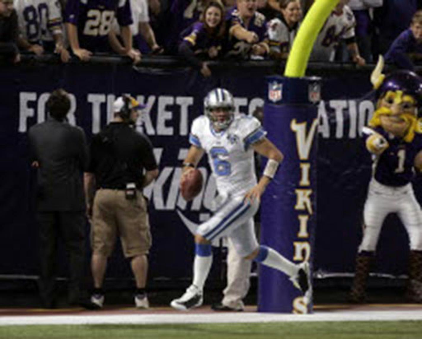
M 372 129 L 384 136 L 389 143 L 389 147 L 374 160 L 373 177 L 387 186 L 408 184 L 414 176 L 415 157 L 422 150 L 422 134 L 415 133 L 413 141 L 406 142 L 401 138 L 391 137 L 381 127 Z M 364 136 L 368 137 L 366 134 Z

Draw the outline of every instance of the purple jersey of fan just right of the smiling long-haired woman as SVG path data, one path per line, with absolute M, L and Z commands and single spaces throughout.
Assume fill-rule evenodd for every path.
M 248 31 L 255 32 L 258 35 L 259 41 L 264 40 L 267 32 L 267 21 L 265 20 L 265 16 L 259 12 L 255 12 L 254 16 L 249 21 L 249 25 L 246 27 L 245 23 L 240 17 L 239 11 L 237 7 L 231 8 L 226 15 L 226 25 L 227 29 L 231 29 L 231 27 L 240 24 L 243 28 L 247 29 Z M 242 57 L 247 59 L 249 56 L 249 52 L 251 50 L 252 45 L 247 43 L 246 41 L 238 40 L 235 37 L 229 37 L 229 41 L 227 43 L 227 57 Z

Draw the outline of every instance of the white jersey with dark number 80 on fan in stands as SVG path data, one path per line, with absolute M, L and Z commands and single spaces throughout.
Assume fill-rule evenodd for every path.
M 14 0 L 19 31 L 30 43 L 53 41 L 52 32 L 62 32 L 58 0 Z

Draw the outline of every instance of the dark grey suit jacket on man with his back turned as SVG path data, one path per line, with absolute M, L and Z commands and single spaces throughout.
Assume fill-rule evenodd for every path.
M 39 163 L 38 210 L 83 210 L 83 172 L 88 163 L 84 131 L 50 118 L 30 128 L 29 144 L 31 161 Z

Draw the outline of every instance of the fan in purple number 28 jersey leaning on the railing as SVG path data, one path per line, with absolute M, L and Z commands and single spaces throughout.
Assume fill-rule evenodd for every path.
M 136 61 L 139 54 L 132 48 L 133 23 L 129 0 L 68 0 L 65 23 L 70 48 L 82 61 L 92 52 L 108 52 L 108 33 L 116 16 L 120 25 L 124 55 Z M 89 50 L 87 49 L 89 48 Z

